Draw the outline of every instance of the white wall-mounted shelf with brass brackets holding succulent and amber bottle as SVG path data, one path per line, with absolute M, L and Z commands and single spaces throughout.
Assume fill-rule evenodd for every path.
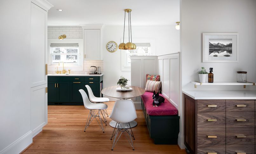
M 195 88 L 197 88 L 197 85 L 242 85 L 242 86 L 244 86 L 244 88 L 246 88 L 246 85 L 253 85 L 253 86 L 255 85 L 255 83 L 253 83 L 253 82 L 241 83 L 241 82 L 236 82 L 236 81 L 233 81 L 233 82 L 213 82 L 213 83 L 208 83 L 208 82 L 201 83 L 201 82 L 198 82 L 198 81 L 192 81 L 191 83 L 195 85 Z

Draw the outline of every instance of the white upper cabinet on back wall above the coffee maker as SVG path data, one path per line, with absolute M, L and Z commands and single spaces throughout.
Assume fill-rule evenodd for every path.
M 85 60 L 100 60 L 100 29 L 84 29 Z

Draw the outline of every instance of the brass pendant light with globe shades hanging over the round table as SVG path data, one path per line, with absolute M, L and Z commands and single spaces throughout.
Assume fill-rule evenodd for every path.
M 128 13 L 128 29 L 129 29 L 129 42 L 124 43 L 125 40 L 125 24 L 124 24 L 124 38 L 123 38 L 123 43 L 120 43 L 118 48 L 122 50 L 132 50 L 136 49 L 136 45 L 132 43 L 132 40 L 130 42 L 130 30 L 131 30 L 131 9 L 125 9 L 125 14 L 126 12 Z

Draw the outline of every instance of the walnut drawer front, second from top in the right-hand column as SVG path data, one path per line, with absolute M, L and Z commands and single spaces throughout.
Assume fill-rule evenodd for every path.
M 226 112 L 226 127 L 254 127 L 254 115 L 255 112 Z

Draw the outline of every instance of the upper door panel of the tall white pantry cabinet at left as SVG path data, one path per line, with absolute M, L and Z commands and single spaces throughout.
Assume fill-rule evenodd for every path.
M 47 83 L 47 11 L 31 3 L 31 87 Z

